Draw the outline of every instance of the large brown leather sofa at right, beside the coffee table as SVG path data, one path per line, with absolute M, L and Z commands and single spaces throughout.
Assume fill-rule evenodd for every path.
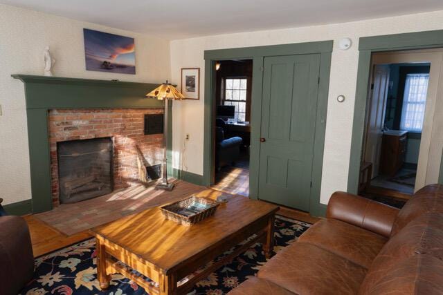
M 334 193 L 325 220 L 229 294 L 443 294 L 443 186 L 401 210 Z

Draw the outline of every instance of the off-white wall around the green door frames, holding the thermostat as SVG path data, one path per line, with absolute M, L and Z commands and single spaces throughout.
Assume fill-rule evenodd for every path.
M 176 151 L 174 166 L 200 175 L 203 173 L 204 50 L 334 40 L 320 196 L 321 202 L 327 204 L 332 192 L 347 189 L 359 37 L 440 29 L 443 29 L 443 11 L 326 26 L 244 32 L 172 41 L 170 44 L 172 82 L 180 84 L 180 68 L 201 68 L 201 99 L 174 104 L 173 149 Z M 342 51 L 337 48 L 338 40 L 343 37 L 350 37 L 354 42 L 349 50 Z M 336 102 L 336 97 L 341 94 L 345 95 L 346 100 L 339 104 Z M 186 157 L 183 160 L 181 151 L 186 133 L 190 134 L 190 140 L 186 143 Z M 181 162 L 186 166 L 181 166 Z

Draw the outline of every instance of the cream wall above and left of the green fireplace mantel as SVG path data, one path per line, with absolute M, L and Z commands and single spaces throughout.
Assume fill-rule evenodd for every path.
M 136 75 L 85 70 L 83 28 L 134 37 Z M 170 78 L 169 41 L 0 5 L 0 197 L 3 204 L 30 199 L 24 84 L 11 74 L 42 75 L 42 52 L 51 47 L 60 77 L 161 83 Z

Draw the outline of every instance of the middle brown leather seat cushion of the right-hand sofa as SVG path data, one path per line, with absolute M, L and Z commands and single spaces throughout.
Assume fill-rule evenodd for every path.
M 273 256 L 257 276 L 296 294 L 356 294 L 366 271 L 316 245 L 295 242 Z

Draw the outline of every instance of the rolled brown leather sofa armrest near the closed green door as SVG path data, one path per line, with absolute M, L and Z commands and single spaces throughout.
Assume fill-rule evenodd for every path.
M 367 198 L 337 191 L 327 204 L 326 217 L 389 237 L 399 209 Z

